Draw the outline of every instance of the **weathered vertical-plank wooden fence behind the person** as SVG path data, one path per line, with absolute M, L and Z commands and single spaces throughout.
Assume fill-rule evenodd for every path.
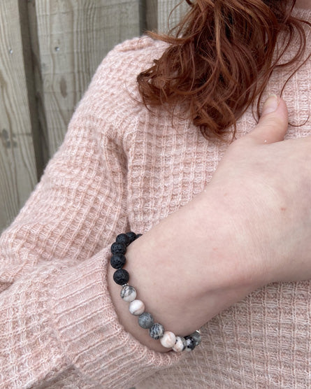
M 0 1 L 0 232 L 59 148 L 107 52 L 146 29 L 166 31 L 180 0 Z M 170 26 L 185 12 L 173 13 Z

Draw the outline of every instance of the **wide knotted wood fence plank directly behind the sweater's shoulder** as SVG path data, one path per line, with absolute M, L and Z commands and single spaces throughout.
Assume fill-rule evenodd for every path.
M 36 20 L 51 156 L 103 57 L 140 35 L 140 1 L 36 0 Z

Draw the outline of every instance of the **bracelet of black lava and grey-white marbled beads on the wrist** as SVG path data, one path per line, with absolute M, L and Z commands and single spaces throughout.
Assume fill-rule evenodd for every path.
M 152 339 L 160 339 L 162 346 L 166 348 L 173 348 L 173 351 L 192 351 L 198 344 L 201 343 L 201 331 L 196 330 L 194 333 L 187 335 L 187 337 L 175 336 L 171 331 L 165 331 L 163 325 L 154 323 L 150 313 L 145 312 L 145 304 L 136 299 L 136 289 L 129 285 L 129 272 L 122 269 L 126 262 L 124 254 L 126 248 L 130 243 L 139 238 L 142 234 L 135 234 L 135 232 L 126 232 L 126 234 L 119 234 L 112 244 L 110 250 L 113 254 L 110 258 L 110 264 L 114 269 L 117 269 L 113 274 L 113 280 L 118 285 L 122 285 L 120 295 L 124 301 L 129 302 L 129 311 L 138 316 L 138 324 L 140 327 L 149 330 Z

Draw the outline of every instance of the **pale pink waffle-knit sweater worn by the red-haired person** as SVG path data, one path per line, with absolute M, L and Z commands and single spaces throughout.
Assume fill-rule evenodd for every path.
M 308 32 L 308 52 L 310 41 Z M 1 235 L 1 389 L 311 387 L 308 281 L 256 290 L 210 320 L 193 353 L 150 351 L 117 320 L 106 283 L 115 236 L 143 233 L 187 204 L 226 150 L 132 98 L 136 75 L 165 47 L 133 38 L 103 59 L 64 143 Z M 266 95 L 286 79 L 275 71 Z M 311 133 L 310 79 L 309 61 L 284 91 L 291 122 L 308 120 L 288 137 Z M 254 124 L 249 109 L 238 136 Z

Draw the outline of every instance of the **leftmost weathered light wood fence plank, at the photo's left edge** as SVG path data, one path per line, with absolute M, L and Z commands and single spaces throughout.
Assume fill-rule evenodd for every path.
M 29 197 L 37 182 L 37 171 L 22 47 L 24 24 L 20 24 L 18 0 L 0 1 L 0 25 L 1 232 Z

